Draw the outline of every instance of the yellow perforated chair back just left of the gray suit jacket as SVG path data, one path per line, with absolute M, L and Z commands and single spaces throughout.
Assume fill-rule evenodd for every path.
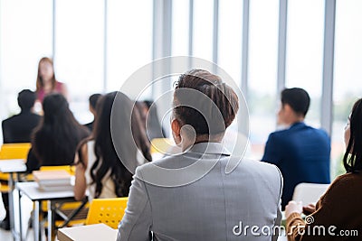
M 128 200 L 129 198 L 93 199 L 85 224 L 103 223 L 117 228 L 125 213 Z

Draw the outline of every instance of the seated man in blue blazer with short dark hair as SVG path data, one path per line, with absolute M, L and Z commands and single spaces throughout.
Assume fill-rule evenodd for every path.
M 284 186 L 281 208 L 291 200 L 300 182 L 329 183 L 329 135 L 304 124 L 310 107 L 310 96 L 302 88 L 286 88 L 281 92 L 278 125 L 284 129 L 269 135 L 263 162 L 275 164 L 281 170 Z

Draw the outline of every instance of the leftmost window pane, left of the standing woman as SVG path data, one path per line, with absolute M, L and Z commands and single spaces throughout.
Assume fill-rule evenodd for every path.
M 0 2 L 1 116 L 19 111 L 17 93 L 35 90 L 38 61 L 52 56 L 52 1 Z

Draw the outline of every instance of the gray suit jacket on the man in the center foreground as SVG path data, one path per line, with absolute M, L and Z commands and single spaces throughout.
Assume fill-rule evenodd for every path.
M 230 158 L 222 144 L 201 143 L 138 167 L 118 240 L 276 240 L 281 172 L 243 159 L 225 173 Z

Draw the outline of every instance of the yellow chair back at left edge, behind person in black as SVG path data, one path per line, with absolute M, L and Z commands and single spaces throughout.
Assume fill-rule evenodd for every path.
M 0 150 L 0 160 L 24 159 L 26 160 L 31 144 L 3 144 Z

